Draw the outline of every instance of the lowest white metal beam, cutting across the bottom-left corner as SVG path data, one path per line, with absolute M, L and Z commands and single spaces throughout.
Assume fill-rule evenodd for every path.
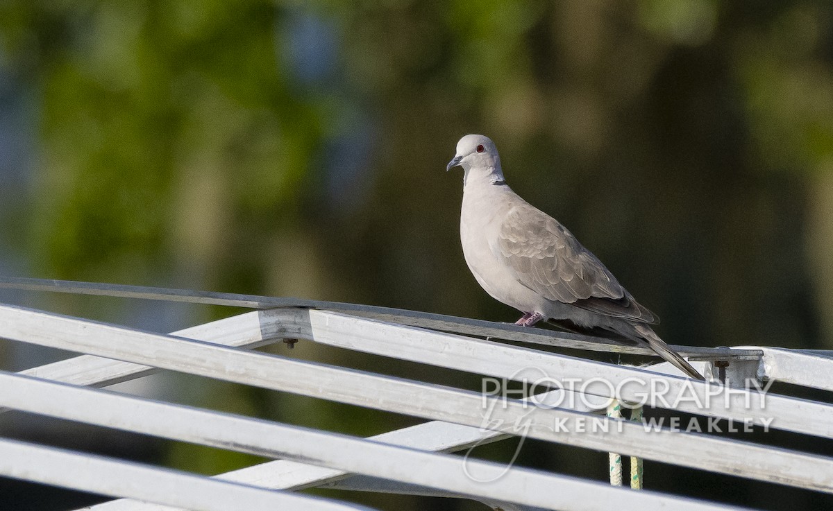
M 195 511 L 346 511 L 369 508 L 160 469 L 53 447 L 0 439 L 0 475 L 110 497 Z

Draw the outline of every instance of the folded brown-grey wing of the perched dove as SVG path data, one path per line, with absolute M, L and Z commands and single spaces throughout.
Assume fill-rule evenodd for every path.
M 547 300 L 656 323 L 656 316 L 639 305 L 576 236 L 526 201 L 512 206 L 491 251 L 518 282 Z

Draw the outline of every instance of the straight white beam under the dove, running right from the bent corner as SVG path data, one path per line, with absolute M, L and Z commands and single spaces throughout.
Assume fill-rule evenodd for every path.
M 600 384 L 588 386 L 586 392 L 631 402 L 641 402 L 648 396 L 647 404 L 652 407 L 741 422 L 751 420 L 774 429 L 833 438 L 833 405 L 827 403 L 730 389 L 652 373 L 651 368 L 605 364 L 327 310 L 276 310 L 275 313 L 283 315 L 282 324 L 291 325 L 293 330 L 305 331 L 308 323 L 312 339 L 327 345 L 511 380 L 526 378 L 533 383 L 572 380 L 581 384 L 599 380 Z M 827 361 L 831 364 L 829 368 L 833 367 L 833 362 Z M 833 370 L 828 371 L 833 375 Z M 602 380 L 609 384 L 601 384 Z M 652 392 L 657 388 L 666 391 L 664 394 Z

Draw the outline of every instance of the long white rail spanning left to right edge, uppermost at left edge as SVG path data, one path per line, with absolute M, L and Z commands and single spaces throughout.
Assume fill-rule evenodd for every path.
M 587 429 L 586 414 L 566 409 L 530 407 L 469 391 L 153 335 L 22 307 L 0 306 L 0 331 L 11 340 L 474 427 L 483 424 L 485 403 L 491 413 L 486 427 L 503 433 L 518 434 L 515 424 L 525 424 L 523 433 L 534 439 L 833 493 L 833 459 L 786 449 L 669 430 L 648 432 L 640 424 L 603 417 L 592 418 L 602 424 L 600 428 Z

